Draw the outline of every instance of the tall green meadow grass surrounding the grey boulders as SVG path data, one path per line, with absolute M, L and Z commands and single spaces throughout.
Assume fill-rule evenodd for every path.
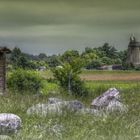
M 121 92 L 122 102 L 128 105 L 128 112 L 114 113 L 110 116 L 63 114 L 62 116 L 28 116 L 27 109 L 37 103 L 47 103 L 47 98 L 56 96 L 72 99 L 58 90 L 55 83 L 44 82 L 44 95 L 12 94 L 1 96 L 0 112 L 14 113 L 21 117 L 22 128 L 14 140 L 139 140 L 140 139 L 140 82 L 92 81 L 86 82 L 91 93 L 87 97 L 77 98 L 86 106 L 92 99 L 106 89 L 115 87 Z M 55 87 L 55 88 L 54 88 Z M 48 88 L 48 89 L 47 89 Z M 54 89 L 53 89 L 54 88 Z

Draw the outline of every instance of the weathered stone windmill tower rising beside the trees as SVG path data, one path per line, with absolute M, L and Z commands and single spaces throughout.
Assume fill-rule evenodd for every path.
M 127 63 L 133 66 L 140 66 L 140 42 L 138 42 L 134 36 L 130 37 Z

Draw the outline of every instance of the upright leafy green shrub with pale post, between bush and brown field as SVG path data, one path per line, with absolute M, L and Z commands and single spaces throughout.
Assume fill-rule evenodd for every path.
M 88 93 L 84 82 L 80 80 L 79 74 L 83 63 L 78 55 L 73 55 L 73 52 L 66 52 L 62 56 L 62 67 L 57 67 L 52 70 L 54 77 L 59 81 L 61 87 L 69 92 L 69 94 L 83 96 Z

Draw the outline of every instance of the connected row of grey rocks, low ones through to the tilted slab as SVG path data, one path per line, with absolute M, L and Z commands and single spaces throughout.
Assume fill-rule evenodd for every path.
M 65 111 L 76 112 L 78 114 L 93 114 L 101 115 L 106 112 L 126 112 L 127 107 L 120 102 L 119 91 L 115 88 L 110 88 L 102 95 L 96 97 L 90 108 L 86 108 L 83 103 L 78 100 L 65 101 L 58 98 L 48 98 L 46 104 L 36 104 L 27 110 L 28 115 L 62 115 Z

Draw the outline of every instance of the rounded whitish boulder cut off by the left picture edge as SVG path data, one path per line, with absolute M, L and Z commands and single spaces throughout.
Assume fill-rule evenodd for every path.
M 10 113 L 0 114 L 0 135 L 16 133 L 21 127 L 19 116 Z

